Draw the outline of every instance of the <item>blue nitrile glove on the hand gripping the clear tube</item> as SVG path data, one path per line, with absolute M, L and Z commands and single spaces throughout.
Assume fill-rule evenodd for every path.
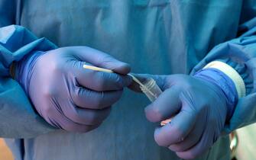
M 164 91 L 145 108 L 151 122 L 160 123 L 154 139 L 180 158 L 190 159 L 206 152 L 219 138 L 225 122 L 232 116 L 238 94 L 235 84 L 217 69 L 204 69 L 196 75 L 135 75 L 141 81 L 154 78 Z M 139 91 L 138 85 L 129 86 Z

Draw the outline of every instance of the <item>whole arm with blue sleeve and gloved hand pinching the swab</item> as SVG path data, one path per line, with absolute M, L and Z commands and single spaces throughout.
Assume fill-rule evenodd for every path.
M 54 130 L 47 123 L 71 132 L 96 129 L 109 116 L 112 104 L 121 98 L 123 88 L 131 83 L 126 75 L 130 71 L 128 64 L 106 53 L 86 46 L 56 48 L 24 27 L 1 28 L 0 77 L 8 85 L 3 85 L 4 94 L 0 94 L 6 108 L 0 110 L 0 136 L 24 138 Z M 13 62 L 18 82 L 9 78 Z M 86 62 L 115 73 L 83 69 Z

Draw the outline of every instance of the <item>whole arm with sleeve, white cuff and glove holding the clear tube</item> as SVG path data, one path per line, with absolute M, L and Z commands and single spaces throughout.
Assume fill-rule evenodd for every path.
M 154 139 L 180 158 L 196 158 L 224 133 L 256 120 L 256 18 L 241 24 L 241 36 L 215 46 L 190 75 L 137 75 L 154 78 L 163 93 L 145 108 L 157 127 Z M 138 91 L 138 85 L 130 86 Z

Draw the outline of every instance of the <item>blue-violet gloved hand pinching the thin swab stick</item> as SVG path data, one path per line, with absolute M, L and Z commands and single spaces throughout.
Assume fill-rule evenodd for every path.
M 83 69 L 86 62 L 115 73 Z M 67 131 L 95 129 L 131 83 L 127 63 L 86 46 L 36 52 L 15 68 L 15 78 L 37 112 L 51 125 Z

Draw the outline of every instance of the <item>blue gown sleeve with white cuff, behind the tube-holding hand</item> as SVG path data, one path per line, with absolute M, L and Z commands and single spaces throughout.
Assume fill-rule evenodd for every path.
M 240 37 L 215 46 L 192 72 L 193 75 L 210 62 L 217 60 L 225 62 L 226 65 L 232 67 L 233 71 L 238 73 L 238 76 L 234 77 L 234 74 L 232 74 L 228 75 L 228 77 L 232 78 L 238 92 L 244 90 L 245 93 L 239 96 L 232 117 L 225 124 L 226 133 L 256 121 L 256 95 L 254 94 L 254 88 L 256 87 L 254 82 L 256 79 L 256 18 L 241 24 L 239 32 L 241 33 Z M 218 66 L 213 66 L 212 68 L 218 68 Z M 221 68 L 219 69 L 222 70 Z M 226 73 L 228 74 L 228 72 Z M 239 77 L 245 83 L 244 86 L 239 83 Z

